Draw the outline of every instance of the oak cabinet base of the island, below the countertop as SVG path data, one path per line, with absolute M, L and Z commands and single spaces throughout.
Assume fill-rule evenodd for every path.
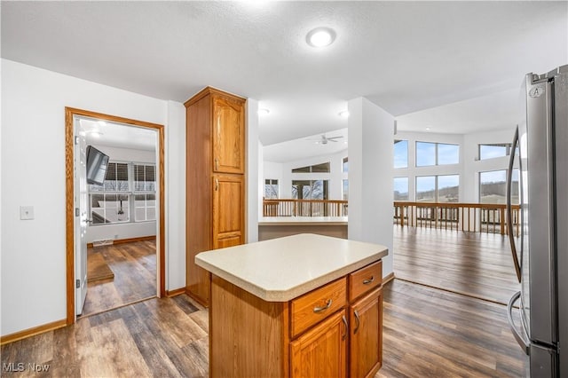
M 383 357 L 382 277 L 377 261 L 280 303 L 214 275 L 209 376 L 374 376 Z

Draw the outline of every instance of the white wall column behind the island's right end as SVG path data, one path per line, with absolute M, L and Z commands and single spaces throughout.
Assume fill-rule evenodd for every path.
M 383 277 L 393 270 L 392 172 L 394 117 L 367 98 L 349 109 L 349 239 L 382 244 Z

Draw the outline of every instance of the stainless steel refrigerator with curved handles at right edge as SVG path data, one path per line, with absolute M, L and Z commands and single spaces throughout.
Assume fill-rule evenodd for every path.
M 509 240 L 521 290 L 509 301 L 509 324 L 530 356 L 530 374 L 568 377 L 568 65 L 525 77 L 523 120 L 511 148 L 519 169 L 521 234 Z M 517 147 L 517 148 L 516 148 Z M 513 311 L 519 317 L 515 324 Z

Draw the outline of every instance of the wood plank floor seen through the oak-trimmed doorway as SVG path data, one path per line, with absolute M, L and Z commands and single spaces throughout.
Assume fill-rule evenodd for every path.
M 87 250 L 89 256 L 102 256 L 114 272 L 112 280 L 87 285 L 87 298 L 81 316 L 108 311 L 156 295 L 155 240 L 134 241 Z

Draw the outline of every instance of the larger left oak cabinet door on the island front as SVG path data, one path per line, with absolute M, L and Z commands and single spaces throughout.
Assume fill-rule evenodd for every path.
M 292 377 L 345 377 L 347 320 L 339 311 L 290 343 Z

